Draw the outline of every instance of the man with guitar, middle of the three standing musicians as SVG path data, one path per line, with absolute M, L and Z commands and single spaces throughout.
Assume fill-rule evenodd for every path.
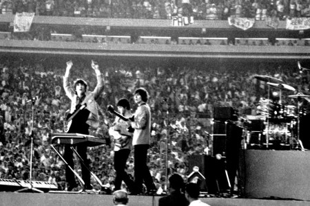
M 133 117 L 133 114 L 130 112 L 130 102 L 127 99 L 122 98 L 118 100 L 117 108 L 119 114 L 123 117 L 127 119 Z M 113 126 L 109 129 L 109 135 L 112 138 L 112 142 L 114 142 L 114 169 L 116 170 L 114 190 L 121 190 L 121 183 L 124 181 L 128 190 L 132 192 L 134 190 L 134 181 L 125 172 L 125 167 L 132 148 L 133 133 L 130 133 L 127 128 L 127 122 L 116 116 Z

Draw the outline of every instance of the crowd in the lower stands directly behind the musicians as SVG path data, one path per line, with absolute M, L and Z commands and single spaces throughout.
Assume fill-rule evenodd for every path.
M 52 133 L 63 133 L 70 102 L 62 87 L 65 62 L 52 62 L 52 59 L 36 63 L 1 59 L 0 178 L 29 180 L 31 169 L 32 180 L 49 181 L 59 190 L 65 190 L 64 163 L 50 148 L 50 140 Z M 187 155 L 209 154 L 211 144 L 205 131 L 211 131 L 209 118 L 214 116 L 214 106 L 231 106 L 238 110 L 240 117 L 256 115 L 260 97 L 267 97 L 267 86 L 254 78 L 256 74 L 280 78 L 302 93 L 309 91 L 309 76 L 293 71 L 295 69 L 285 64 L 260 63 L 256 69 L 250 69 L 251 66 L 227 68 L 225 65 L 199 69 L 194 64 L 152 67 L 138 62 L 100 66 L 105 76 L 105 90 L 99 99 L 101 127 L 92 130 L 91 135 L 105 139 L 106 144 L 89 148 L 88 159 L 91 170 L 110 190 L 114 188 L 115 171 L 113 142 L 107 130 L 114 115 L 108 113 L 106 107 L 115 105 L 120 98 L 127 98 L 134 111 L 132 91 L 137 87 L 145 87 L 150 93 L 152 146 L 148 162 L 156 187 L 163 190 L 167 174 L 178 173 L 186 180 L 187 174 L 192 172 L 192 168 L 188 168 Z M 90 82 L 90 89 L 95 87 L 89 62 L 74 61 L 72 80 L 78 76 Z M 285 94 L 283 104 L 295 105 L 295 100 Z M 30 135 L 34 137 L 32 168 Z M 134 159 L 130 155 L 127 172 L 133 174 L 133 167 Z M 75 169 L 81 172 L 80 168 Z M 92 184 L 95 189 L 101 189 L 94 179 Z

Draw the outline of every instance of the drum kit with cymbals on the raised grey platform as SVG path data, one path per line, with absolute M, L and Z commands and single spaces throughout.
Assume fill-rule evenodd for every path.
M 265 141 L 262 141 L 262 146 L 273 149 L 276 149 L 275 145 L 279 146 L 278 148 L 299 148 L 300 114 L 302 113 L 300 105 L 304 99 L 310 102 L 310 95 L 303 93 L 288 95 L 288 98 L 297 100 L 297 105 L 283 105 L 282 91 L 296 91 L 296 89 L 285 84 L 282 80 L 270 76 L 254 76 L 254 78 L 267 82 L 268 85 L 268 98 L 260 98 L 257 107 L 258 115 L 265 117 L 265 129 L 262 131 Z M 279 89 L 280 99 L 278 102 L 270 99 L 271 88 Z

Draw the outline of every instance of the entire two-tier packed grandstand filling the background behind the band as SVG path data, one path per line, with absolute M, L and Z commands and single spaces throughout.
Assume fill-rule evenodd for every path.
M 60 19 L 61 16 L 110 18 L 112 22 L 113 19 L 118 18 L 160 21 L 159 19 L 169 19 L 183 14 L 189 18 L 194 16 L 194 21 L 213 20 L 215 25 L 216 21 L 226 21 L 231 15 L 254 18 L 256 21 L 265 21 L 267 16 L 271 15 L 276 16 L 279 21 L 287 17 L 309 17 L 310 15 L 308 1 L 191 1 L 191 4 L 188 4 L 183 1 L 30 0 L 1 1 L 0 7 L 2 15 L 35 12 L 36 16 L 56 16 Z M 107 131 L 115 117 L 107 111 L 107 105 L 115 105 L 120 98 L 127 98 L 132 104 L 132 111 L 135 111 L 132 92 L 138 87 L 145 87 L 150 94 L 148 103 L 152 108 L 152 145 L 148 152 L 148 162 L 156 187 L 161 187 L 163 190 L 167 183 L 167 174 L 176 172 L 185 180 L 187 179 L 187 175 L 192 172 L 187 160 L 188 155 L 210 154 L 212 144 L 210 144 L 209 134 L 216 106 L 234 108 L 238 112 L 238 117 L 244 119 L 248 115 L 258 115 L 260 98 L 267 98 L 270 89 L 266 82 L 255 78 L 258 73 L 283 80 L 296 89 L 295 93 L 297 91 L 309 93 L 309 75 L 307 72 L 300 73 L 298 70 L 298 54 L 296 56 L 285 54 L 284 58 L 288 57 L 291 60 L 283 62 L 281 59 L 273 61 L 267 57 L 256 60 L 255 52 L 245 54 L 250 57 L 242 61 L 222 60 L 217 59 L 216 56 L 205 60 L 193 60 L 183 54 L 182 59 L 165 59 L 163 62 L 157 62 L 156 58 L 148 57 L 145 60 L 143 54 L 138 54 L 139 52 L 136 52 L 138 58 L 132 59 L 130 57 L 101 59 L 100 55 L 83 56 L 83 54 L 81 58 L 79 52 L 74 55 L 69 54 L 71 45 L 65 47 L 62 44 L 63 41 L 67 41 L 101 45 L 122 43 L 127 47 L 136 44 L 227 47 L 241 45 L 249 46 L 251 51 L 251 48 L 256 46 L 267 46 L 268 49 L 269 46 L 275 45 L 285 46 L 285 48 L 309 46 L 307 32 L 291 34 L 282 29 L 277 33 L 281 35 L 276 38 L 271 35 L 273 32 L 270 32 L 271 29 L 268 33 L 264 28 L 257 36 L 252 34 L 252 36 L 247 35 L 247 38 L 238 38 L 237 35 L 236 38 L 231 38 L 231 34 L 223 37 L 222 29 L 218 28 L 212 33 L 214 38 L 211 38 L 203 37 L 206 32 L 204 30 L 203 32 L 200 30 L 200 36 L 192 36 L 191 31 L 186 31 L 185 26 L 178 30 L 185 30 L 183 34 L 187 33 L 186 36 L 177 36 L 175 34 L 177 31 L 174 31 L 174 35 L 163 38 L 163 36 L 152 36 L 154 29 L 148 30 L 147 27 L 136 27 L 134 30 L 139 33 L 136 35 L 134 32 L 122 34 L 121 30 L 113 34 L 113 29 L 110 27 L 111 31 L 107 31 L 107 27 L 101 31 L 96 30 L 95 26 L 77 25 L 79 32 L 76 32 L 74 27 L 68 32 L 64 30 L 63 25 L 57 27 L 57 25 L 35 24 L 30 32 L 17 33 L 13 32 L 12 25 L 7 23 L 1 24 L 1 40 L 3 40 L 1 43 L 6 41 L 10 44 L 11 41 L 14 44 L 14 40 L 19 40 L 28 41 L 25 44 L 31 45 L 32 41 L 55 41 L 59 43 L 56 49 L 65 50 L 61 50 L 63 54 L 54 54 L 56 49 L 51 49 L 50 54 L 53 54 L 51 56 L 25 55 L 21 54 L 23 52 L 19 53 L 20 51 L 10 54 L 10 46 L 7 50 L 1 50 L 1 179 L 30 179 L 30 135 L 33 126 L 32 180 L 48 181 L 56 185 L 59 190 L 65 190 L 65 165 L 50 148 L 50 140 L 53 133 L 63 133 L 65 113 L 70 108 L 70 101 L 65 97 L 62 87 L 65 62 L 68 60 L 72 60 L 74 64 L 72 80 L 83 76 L 90 83 L 90 89 L 95 87 L 94 82 L 96 82 L 95 76 L 90 72 L 92 58 L 98 60 L 105 78 L 105 90 L 99 99 L 101 127 L 98 130 L 92 130 L 91 133 L 95 137 L 105 139 L 105 144 L 90 148 L 88 159 L 92 171 L 111 190 L 114 189 L 115 179 L 114 152 L 113 142 L 110 141 Z M 40 47 L 50 48 L 44 43 Z M 168 51 L 166 49 L 167 47 L 158 49 L 155 53 L 164 57 L 165 52 L 169 52 L 169 49 Z M 194 51 L 196 47 L 191 49 Z M 281 47 L 275 51 L 273 53 L 276 56 L 285 53 Z M 264 52 L 264 49 L 260 49 L 260 52 Z M 222 50 L 221 53 L 224 55 L 225 51 Z M 117 54 L 117 48 L 115 54 Z M 272 93 L 274 95 L 272 98 L 274 101 L 279 100 L 278 90 L 274 89 L 274 91 L 276 92 Z M 293 94 L 291 91 L 280 93 L 281 104 L 297 105 L 296 99 L 288 97 L 291 94 Z M 31 100 L 34 97 L 37 98 L 32 104 Z M 307 104 L 308 102 L 304 101 L 305 115 Z M 32 111 L 34 111 L 33 122 Z M 127 172 L 132 176 L 133 167 L 134 159 L 130 155 L 127 161 Z M 81 173 L 77 162 L 75 169 Z M 92 185 L 96 190 L 101 189 L 95 179 L 92 179 Z M 126 185 L 124 184 L 123 187 Z

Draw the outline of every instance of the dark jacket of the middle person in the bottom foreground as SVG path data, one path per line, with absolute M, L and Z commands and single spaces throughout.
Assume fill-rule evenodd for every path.
M 174 191 L 168 196 L 163 196 L 158 200 L 158 206 L 188 206 L 189 201 L 183 193 Z

